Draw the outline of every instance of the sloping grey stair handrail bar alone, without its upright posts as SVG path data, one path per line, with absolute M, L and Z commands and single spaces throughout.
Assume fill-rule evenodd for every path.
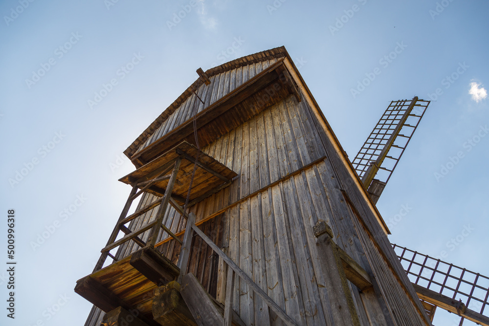
M 188 227 L 188 226 L 187 226 Z M 287 315 L 287 313 L 282 310 L 282 308 L 276 304 L 268 295 L 263 291 L 256 283 L 251 280 L 251 278 L 234 262 L 222 252 L 221 249 L 211 240 L 209 237 L 207 237 L 198 226 L 196 226 L 194 223 L 191 223 L 190 227 L 202 238 L 221 258 L 223 261 L 227 263 L 231 269 L 238 274 L 238 276 L 241 277 L 241 279 L 255 292 L 268 306 L 270 309 L 275 312 L 275 314 L 282 319 L 282 321 L 286 325 L 290 326 L 295 326 L 297 325 L 296 322 Z M 180 267 L 180 270 L 185 270 L 186 266 Z

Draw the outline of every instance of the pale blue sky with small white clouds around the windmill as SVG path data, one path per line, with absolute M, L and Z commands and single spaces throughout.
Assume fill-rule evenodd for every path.
M 0 324 L 83 325 L 91 304 L 73 288 L 129 195 L 122 152 L 197 68 L 281 45 L 351 159 L 392 100 L 432 100 L 378 210 L 392 243 L 489 276 L 488 12 L 483 0 L 0 1 L 4 253 L 15 220 L 0 270 L 17 262 L 14 320 L 0 272 Z M 434 324 L 456 317 L 439 309 Z

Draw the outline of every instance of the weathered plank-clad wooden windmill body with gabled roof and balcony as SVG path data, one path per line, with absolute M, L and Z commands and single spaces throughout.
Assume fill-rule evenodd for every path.
M 198 73 L 124 152 L 85 325 L 431 325 L 287 50 Z

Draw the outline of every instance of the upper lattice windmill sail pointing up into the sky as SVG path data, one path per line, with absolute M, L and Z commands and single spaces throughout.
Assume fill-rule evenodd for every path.
M 374 176 L 387 183 L 429 103 L 414 97 L 412 100 L 392 101 L 387 107 L 352 161 L 366 188 Z M 370 172 L 371 166 L 376 167 L 377 171 L 372 172 L 368 179 L 367 172 Z M 368 180 L 365 180 L 366 177 Z

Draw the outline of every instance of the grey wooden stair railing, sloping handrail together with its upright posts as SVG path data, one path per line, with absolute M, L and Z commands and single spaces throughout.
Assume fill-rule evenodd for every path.
M 219 257 L 222 258 L 223 261 L 226 262 L 227 269 L 227 283 L 226 283 L 226 298 L 224 303 L 224 326 L 231 325 L 231 316 L 232 316 L 232 306 L 233 306 L 233 290 L 234 290 L 234 281 L 235 274 L 238 274 L 238 277 L 241 279 L 253 290 L 253 292 L 258 295 L 263 302 L 265 302 L 268 307 L 278 316 L 282 321 L 289 326 L 297 325 L 296 322 L 287 315 L 287 313 L 276 304 L 268 295 L 263 291 L 256 283 L 251 280 L 251 278 L 234 262 L 227 256 L 222 250 L 207 237 L 198 226 L 194 224 L 195 215 L 194 213 L 190 213 L 187 219 L 187 225 L 185 227 L 185 234 L 183 236 L 183 245 L 180 253 L 180 257 L 178 260 L 178 267 L 180 268 L 180 276 L 178 277 L 177 282 L 180 283 L 183 275 L 186 273 L 188 260 L 190 257 L 190 246 L 192 242 L 192 232 L 195 231 L 197 235 L 202 238 L 209 247 L 214 250 Z

